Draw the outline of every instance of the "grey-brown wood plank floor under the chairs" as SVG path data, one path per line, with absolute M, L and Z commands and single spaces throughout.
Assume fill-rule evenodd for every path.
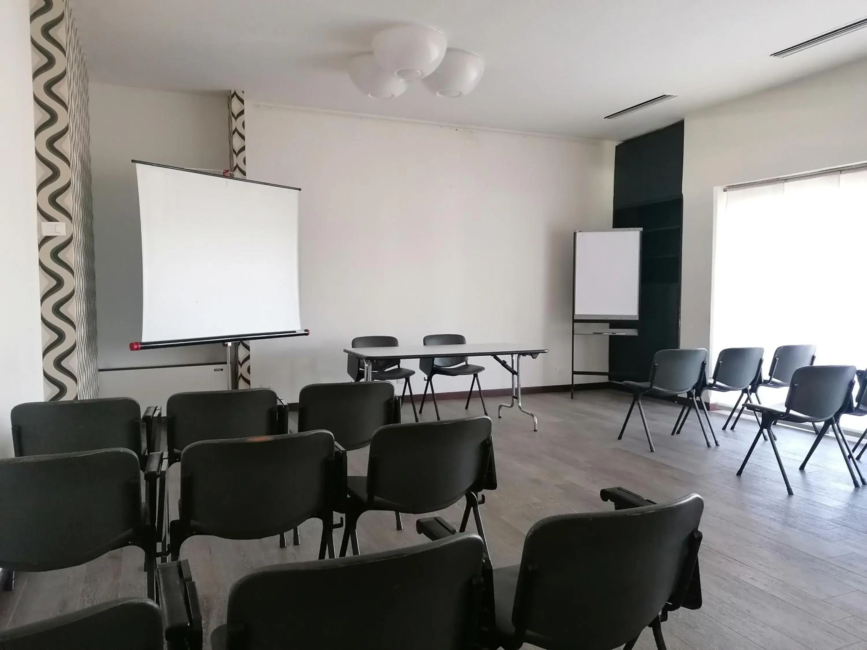
M 491 408 L 495 400 L 488 402 Z M 694 418 L 673 438 L 668 433 L 678 409 L 648 400 L 656 446 L 650 453 L 637 413 L 623 440 L 616 440 L 629 406 L 623 393 L 576 393 L 575 400 L 568 393 L 538 394 L 527 396 L 525 405 L 538 414 L 538 433 L 525 415 L 505 411 L 498 420 L 491 408 L 499 489 L 487 494 L 482 517 L 494 566 L 518 562 L 526 531 L 542 517 L 608 510 L 610 504 L 598 496 L 603 487 L 621 485 L 655 501 L 698 492 L 705 499 L 705 604 L 672 616 L 664 626 L 669 648 L 867 650 L 867 488 L 852 487 L 832 438 L 819 445 L 801 472 L 812 434 L 778 428 L 795 491 L 789 497 L 769 443 L 759 441 L 744 475 L 734 475 L 757 428 L 746 417 L 738 432 L 720 432 L 722 416 L 712 413 L 721 446 L 707 449 Z M 443 401 L 440 411 L 453 417 L 466 413 L 461 400 Z M 480 413 L 478 401 L 470 412 Z M 424 414 L 433 416 L 427 409 Z M 365 452 L 350 456 L 350 471 L 363 471 Z M 457 523 L 461 510 L 453 507 L 444 517 Z M 364 515 L 362 553 L 421 543 L 412 519 L 405 515 L 405 529 L 397 532 L 390 513 Z M 182 556 L 190 559 L 199 585 L 205 638 L 225 618 L 232 582 L 257 567 L 315 558 L 318 535 L 318 523 L 307 523 L 301 546 L 284 550 L 277 548 L 276 537 L 189 540 Z M 21 574 L 15 590 L 0 595 L 0 627 L 117 596 L 144 595 L 141 563 L 141 552 L 127 549 L 76 569 Z M 653 647 L 649 632 L 636 647 Z

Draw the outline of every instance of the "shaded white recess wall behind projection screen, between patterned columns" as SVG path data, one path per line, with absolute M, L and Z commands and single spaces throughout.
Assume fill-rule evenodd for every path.
M 90 155 L 99 367 L 225 361 L 219 346 L 129 350 L 141 336 L 139 199 L 130 161 L 224 169 L 229 164 L 225 94 L 91 83 Z

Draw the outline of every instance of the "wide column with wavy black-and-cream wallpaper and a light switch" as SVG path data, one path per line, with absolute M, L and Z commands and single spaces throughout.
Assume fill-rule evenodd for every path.
M 86 399 L 98 393 L 88 73 L 68 0 L 31 0 L 30 42 L 45 399 Z

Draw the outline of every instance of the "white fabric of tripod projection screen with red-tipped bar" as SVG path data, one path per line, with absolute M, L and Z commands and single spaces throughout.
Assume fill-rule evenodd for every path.
M 136 163 L 142 341 L 301 328 L 295 189 Z

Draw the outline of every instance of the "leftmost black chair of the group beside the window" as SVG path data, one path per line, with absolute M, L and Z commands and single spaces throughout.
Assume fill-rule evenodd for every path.
M 704 422 L 701 421 L 701 411 L 705 410 L 704 402 L 696 399 L 696 393 L 701 387 L 701 382 L 704 380 L 704 368 L 707 361 L 707 350 L 704 348 L 695 349 L 673 349 L 659 350 L 653 357 L 653 365 L 650 367 L 650 379 L 648 381 L 622 381 L 621 386 L 627 388 L 632 393 L 632 403 L 629 404 L 629 412 L 626 413 L 626 419 L 623 420 L 623 426 L 620 428 L 620 435 L 617 439 L 623 439 L 623 432 L 626 431 L 626 425 L 629 423 L 629 416 L 632 415 L 632 409 L 638 405 L 638 413 L 641 413 L 642 424 L 644 425 L 644 433 L 648 438 L 650 451 L 655 452 L 653 439 L 650 438 L 650 430 L 648 428 L 648 420 L 644 415 L 644 407 L 642 406 L 642 396 L 645 394 L 656 395 L 687 395 L 687 405 L 681 408 L 681 413 L 675 421 L 675 428 L 671 434 L 680 433 L 683 425 L 689 417 L 692 409 L 695 409 L 695 417 L 699 420 L 701 432 L 704 434 L 705 443 L 710 446 L 710 440 L 707 439 L 707 432 L 704 428 Z M 714 436 L 714 443 L 719 446 L 720 443 L 716 439 L 714 430 L 711 429 L 711 435 Z

